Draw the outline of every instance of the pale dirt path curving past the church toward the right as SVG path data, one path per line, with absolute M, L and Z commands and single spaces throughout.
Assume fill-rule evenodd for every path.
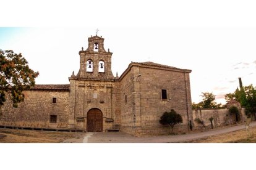
M 250 127 L 256 126 L 256 122 L 250 124 Z M 87 132 L 83 142 L 88 143 L 168 143 L 168 142 L 189 142 L 192 140 L 202 139 L 218 134 L 226 134 L 228 132 L 239 131 L 245 129 L 245 125 L 237 125 L 226 127 L 223 129 L 213 129 L 206 132 L 198 132 L 195 134 L 183 134 L 176 136 L 154 136 L 154 137 L 134 137 L 123 132 Z

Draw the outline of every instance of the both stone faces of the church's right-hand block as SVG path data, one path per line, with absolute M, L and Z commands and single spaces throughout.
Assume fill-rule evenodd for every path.
M 162 89 L 167 90 L 168 99 L 161 99 Z M 136 136 L 169 134 L 169 126 L 159 120 L 171 109 L 183 118 L 174 132 L 188 131 L 188 120 L 192 119 L 188 73 L 134 65 L 122 76 L 120 91 L 121 131 Z

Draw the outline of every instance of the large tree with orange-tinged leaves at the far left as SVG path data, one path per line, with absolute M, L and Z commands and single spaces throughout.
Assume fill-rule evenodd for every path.
M 38 75 L 28 67 L 22 54 L 0 49 L 0 107 L 6 102 L 7 95 L 11 97 L 13 107 L 18 107 L 18 103 L 24 100 L 22 92 L 35 86 Z

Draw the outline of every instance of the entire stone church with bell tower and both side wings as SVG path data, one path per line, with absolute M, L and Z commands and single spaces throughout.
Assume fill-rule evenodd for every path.
M 105 50 L 104 40 L 97 35 L 88 38 L 88 48 L 79 51 L 80 70 L 69 77 L 70 84 L 36 84 L 23 92 L 25 100 L 18 108 L 7 100 L 0 125 L 158 135 L 169 133 L 159 120 L 164 111 L 174 109 L 183 118 L 174 131 L 189 131 L 191 70 L 131 62 L 120 77 L 114 76 L 113 53 Z

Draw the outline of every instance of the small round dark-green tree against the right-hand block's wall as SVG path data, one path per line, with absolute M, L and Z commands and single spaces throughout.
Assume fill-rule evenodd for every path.
M 168 124 L 171 127 L 171 132 L 173 132 L 173 127 L 176 124 L 182 123 L 182 116 L 179 115 L 175 110 L 171 109 L 169 112 L 164 112 L 159 121 L 161 124 Z

